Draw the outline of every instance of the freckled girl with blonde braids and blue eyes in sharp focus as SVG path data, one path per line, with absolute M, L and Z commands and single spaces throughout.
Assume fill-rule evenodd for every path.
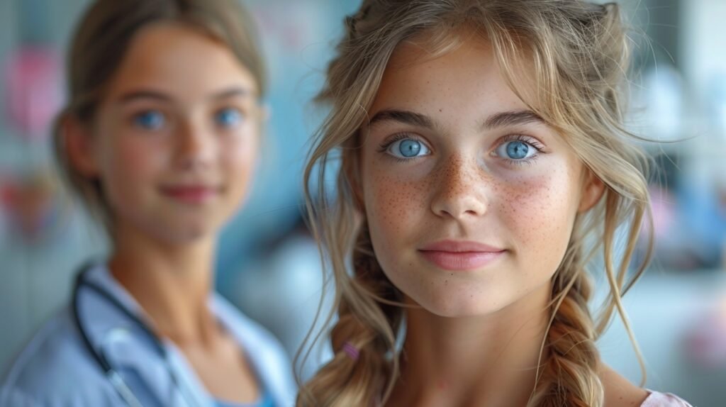
M 686 406 L 596 347 L 613 312 L 627 326 L 648 215 L 647 160 L 621 121 L 619 7 L 364 0 L 346 27 L 306 170 L 329 179 L 340 160 L 335 191 L 308 192 L 335 358 L 298 406 Z

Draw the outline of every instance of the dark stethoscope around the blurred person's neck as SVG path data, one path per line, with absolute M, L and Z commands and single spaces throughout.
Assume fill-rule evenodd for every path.
M 123 313 L 123 316 L 126 318 L 129 318 L 129 321 L 134 323 L 139 329 L 142 330 L 142 332 L 147 335 L 147 337 L 151 340 L 152 346 L 155 348 L 156 351 L 161 355 L 163 358 L 165 365 L 166 365 L 166 371 L 168 372 L 169 377 L 171 378 L 171 382 L 174 385 L 174 388 L 179 390 L 179 394 L 181 394 L 181 397 L 184 398 L 184 401 L 187 403 L 187 406 L 200 406 L 201 404 L 195 400 L 193 397 L 189 397 L 187 394 L 187 387 L 182 386 L 181 382 L 179 381 L 179 377 L 176 376 L 176 373 L 174 372 L 174 369 L 171 368 L 171 365 L 168 361 L 168 352 L 166 348 L 164 347 L 163 343 L 161 342 L 160 338 L 157 334 L 155 334 L 149 327 L 147 323 L 142 321 L 139 316 L 134 315 L 134 313 L 131 313 L 128 308 L 126 308 L 125 305 L 121 303 L 121 301 L 118 300 L 118 298 L 114 297 L 110 294 L 106 289 L 99 286 L 99 284 L 94 283 L 94 281 L 89 281 L 85 278 L 86 272 L 89 270 L 89 266 L 84 266 L 81 268 L 81 271 L 78 272 L 78 276 L 76 276 L 76 283 L 73 285 L 73 294 L 72 294 L 72 312 L 73 312 L 73 322 L 76 324 L 76 328 L 78 329 L 78 332 L 81 334 L 81 339 L 83 340 L 83 345 L 85 348 L 91 353 L 91 356 L 94 358 L 98 366 L 104 371 L 104 374 L 106 375 L 107 379 L 111 382 L 115 390 L 118 392 L 118 395 L 121 396 L 124 403 L 126 403 L 129 407 L 142 407 L 142 403 L 139 401 L 139 398 L 136 398 L 136 395 L 134 395 L 134 392 L 131 391 L 131 387 L 124 382 L 123 377 L 121 377 L 121 374 L 118 373 L 115 369 L 113 369 L 113 366 L 111 366 L 111 363 L 109 363 L 108 359 L 106 358 L 106 354 L 103 352 L 103 348 L 101 350 L 97 350 L 93 344 L 91 344 L 91 340 L 89 339 L 89 335 L 86 332 L 85 327 L 83 326 L 83 323 L 81 321 L 80 316 L 80 300 L 79 300 L 79 292 L 81 288 L 89 289 L 91 292 L 94 292 L 95 295 L 98 295 L 99 297 L 102 297 L 103 300 L 105 300 L 110 305 L 113 305 L 113 307 Z M 189 400 L 194 401 L 193 403 L 189 403 Z

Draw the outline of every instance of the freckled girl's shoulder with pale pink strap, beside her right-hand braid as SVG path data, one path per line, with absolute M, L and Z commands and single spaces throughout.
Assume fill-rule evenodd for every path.
M 608 366 L 600 369 L 600 380 L 605 390 L 605 407 L 691 407 L 676 395 L 638 387 Z

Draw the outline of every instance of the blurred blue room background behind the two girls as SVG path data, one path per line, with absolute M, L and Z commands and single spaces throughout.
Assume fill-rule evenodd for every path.
M 324 112 L 311 104 L 343 16 L 357 0 L 256 0 L 271 112 L 250 199 L 224 231 L 216 286 L 294 355 L 317 310 L 317 250 L 301 225 L 301 173 Z M 620 1 L 635 38 L 632 130 L 650 139 L 656 261 L 625 296 L 646 386 L 726 406 L 726 1 Z M 47 123 L 62 103 L 62 55 L 87 0 L 0 0 L 0 371 L 68 300 L 76 268 L 107 249 L 57 181 Z M 676 141 L 678 142 L 671 142 Z M 602 294 L 605 283 L 597 278 Z M 274 300 L 274 301 L 271 301 Z M 640 371 L 623 325 L 607 363 Z M 309 374 L 326 357 L 317 350 Z

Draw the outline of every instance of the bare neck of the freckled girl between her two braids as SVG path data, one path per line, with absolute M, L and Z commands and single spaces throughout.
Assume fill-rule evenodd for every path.
M 389 406 L 525 406 L 534 388 L 550 287 L 487 316 L 407 312 Z

